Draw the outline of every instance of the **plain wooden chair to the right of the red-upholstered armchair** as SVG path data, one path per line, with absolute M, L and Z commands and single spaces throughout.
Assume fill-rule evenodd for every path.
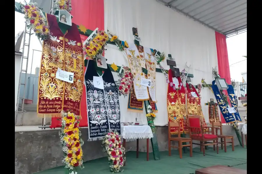
M 232 151 L 234 151 L 234 137 L 233 137 L 233 135 L 223 135 L 221 122 L 212 122 L 212 132 L 213 132 L 212 134 L 214 134 L 215 126 L 218 126 L 218 129 L 220 129 L 220 135 L 218 135 L 218 138 L 221 139 L 221 142 L 218 142 L 218 143 L 221 144 L 221 149 L 223 150 L 223 144 L 224 144 L 225 152 L 226 152 L 226 143 L 232 143 Z M 227 142 L 226 139 L 231 139 L 231 141 Z M 215 145 L 214 145 L 214 149 L 215 149 Z

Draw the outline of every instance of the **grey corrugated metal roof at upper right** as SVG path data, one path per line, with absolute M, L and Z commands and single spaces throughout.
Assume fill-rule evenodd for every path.
M 247 29 L 247 0 L 156 0 L 224 35 Z

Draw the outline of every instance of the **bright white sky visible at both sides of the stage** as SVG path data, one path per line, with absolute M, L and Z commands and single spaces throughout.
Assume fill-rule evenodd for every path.
M 24 21 L 25 21 L 24 15 L 15 12 L 15 36 L 17 35 L 18 32 L 22 32 L 24 30 L 25 28 Z M 28 43 L 28 38 L 29 35 L 27 34 L 26 43 Z M 227 38 L 226 44 L 228 49 L 231 79 L 242 82 L 241 73 L 247 71 L 247 60 L 245 60 L 246 59 L 245 57 L 242 57 L 247 55 L 247 32 Z M 21 44 L 21 48 L 22 48 L 22 44 Z M 25 55 L 27 54 L 27 49 L 28 47 L 26 47 Z M 39 51 L 34 51 L 33 54 L 33 49 Z M 22 49 L 20 51 L 22 52 Z M 35 73 L 36 67 L 40 67 L 41 51 L 42 51 L 42 46 L 40 45 L 37 37 L 34 34 L 31 35 L 29 62 L 28 62 L 28 69 L 27 69 L 28 73 L 31 72 L 31 67 L 32 67 L 32 74 Z M 32 62 L 32 56 L 34 56 L 33 62 Z M 26 68 L 26 61 L 23 62 L 23 69 L 25 68 Z

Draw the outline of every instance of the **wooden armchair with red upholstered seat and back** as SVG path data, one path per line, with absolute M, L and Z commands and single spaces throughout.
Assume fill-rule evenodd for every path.
M 192 143 L 192 144 L 200 145 L 200 151 L 203 148 L 204 156 L 205 156 L 205 146 L 209 146 L 209 145 L 217 145 L 217 153 L 218 153 L 218 136 L 217 136 L 218 128 L 214 127 L 214 129 L 216 130 L 216 135 L 204 133 L 206 129 L 211 128 L 211 127 L 203 128 L 199 115 L 187 115 L 187 124 L 188 124 L 188 130 L 190 133 L 190 138 L 192 140 L 200 141 L 200 144 L 198 143 Z M 215 143 L 207 142 L 207 141 L 212 141 L 212 140 L 215 140 L 216 142 Z M 205 144 L 205 142 L 207 143 Z

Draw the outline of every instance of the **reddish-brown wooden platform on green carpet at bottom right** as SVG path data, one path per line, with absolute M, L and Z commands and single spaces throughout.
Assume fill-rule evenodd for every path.
M 195 172 L 196 174 L 247 174 L 247 170 L 221 165 L 197 169 Z

